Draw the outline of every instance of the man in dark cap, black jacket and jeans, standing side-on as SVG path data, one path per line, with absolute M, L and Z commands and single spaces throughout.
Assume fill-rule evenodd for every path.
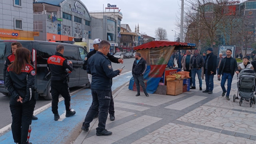
M 213 49 L 209 47 L 207 49 L 206 60 L 204 63 L 204 74 L 205 74 L 205 83 L 206 83 L 206 90 L 203 92 L 208 94 L 212 94 L 213 90 L 213 77 L 216 75 L 216 68 L 217 68 L 217 56 L 213 54 Z

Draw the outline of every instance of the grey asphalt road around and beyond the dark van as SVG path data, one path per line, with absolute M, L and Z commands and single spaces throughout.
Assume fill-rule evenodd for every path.
M 122 66 L 125 66 L 123 68 L 122 74 L 129 72 L 132 70 L 132 64 L 135 58 L 130 59 L 124 59 L 123 64 L 116 64 L 112 63 L 112 67 L 114 70 L 117 68 L 121 68 Z M 77 86 L 70 88 L 70 92 L 74 92 L 80 88 L 83 88 L 85 85 Z M 61 96 L 60 96 L 61 97 Z M 51 103 L 51 100 L 44 100 L 43 97 L 39 97 L 39 100 L 36 101 L 36 109 L 41 108 L 42 106 Z M 4 96 L 2 93 L 0 93 L 0 129 L 5 127 L 8 124 L 12 123 L 12 115 L 9 108 L 9 98 L 7 96 Z

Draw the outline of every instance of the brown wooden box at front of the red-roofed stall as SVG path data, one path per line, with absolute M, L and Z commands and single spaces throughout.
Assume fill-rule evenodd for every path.
M 174 80 L 167 81 L 167 92 L 168 95 L 178 95 L 182 93 L 183 88 L 183 79 L 182 80 Z

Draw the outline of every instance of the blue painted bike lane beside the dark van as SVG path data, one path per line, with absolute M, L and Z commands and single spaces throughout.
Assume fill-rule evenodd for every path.
M 129 82 L 132 73 L 113 78 L 112 91 L 121 85 Z M 76 111 L 76 115 L 66 117 L 63 121 L 54 121 L 52 108 L 47 108 L 43 112 L 36 115 L 38 120 L 32 121 L 32 131 L 30 135 L 30 142 L 33 144 L 42 143 L 65 143 L 77 128 L 80 129 L 82 121 L 92 103 L 92 96 L 90 89 L 83 89 L 71 96 L 71 108 Z M 59 114 L 62 115 L 65 111 L 64 100 L 58 104 Z M 78 125 L 79 124 L 79 125 Z M 12 132 L 8 131 L 0 136 L 0 144 L 14 143 Z

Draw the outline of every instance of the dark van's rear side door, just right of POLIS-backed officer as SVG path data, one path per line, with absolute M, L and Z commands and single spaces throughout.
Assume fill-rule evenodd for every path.
M 79 85 L 79 73 L 80 73 L 80 61 L 78 56 L 77 47 L 73 45 L 64 45 L 64 54 L 63 56 L 68 60 L 72 61 L 73 71 L 69 74 L 69 87 Z

